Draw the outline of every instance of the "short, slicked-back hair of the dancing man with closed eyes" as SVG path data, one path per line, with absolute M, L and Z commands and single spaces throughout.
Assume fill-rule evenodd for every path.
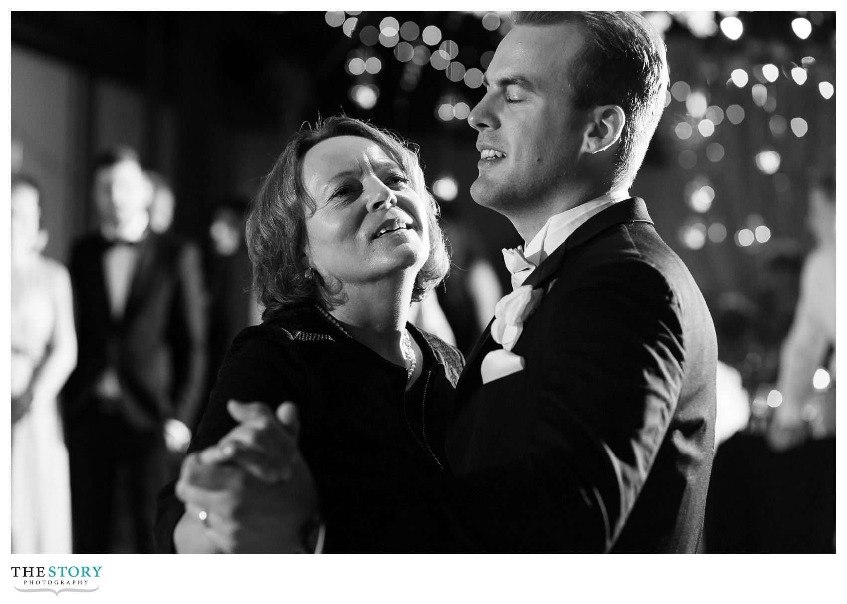
M 584 47 L 569 76 L 578 110 L 618 105 L 626 124 L 617 147 L 614 184 L 634 180 L 665 108 L 665 43 L 638 13 L 630 11 L 517 11 L 515 25 L 578 25 Z

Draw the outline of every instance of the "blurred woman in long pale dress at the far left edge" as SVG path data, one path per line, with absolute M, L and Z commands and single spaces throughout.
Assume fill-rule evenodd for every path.
M 70 553 L 70 481 L 58 393 L 76 363 L 67 269 L 42 256 L 41 191 L 12 176 L 12 551 Z

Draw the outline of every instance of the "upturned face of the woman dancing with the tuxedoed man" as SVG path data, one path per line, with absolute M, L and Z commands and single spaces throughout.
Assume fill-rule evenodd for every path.
M 429 258 L 427 205 L 411 175 L 379 143 L 360 136 L 318 142 L 303 158 L 316 209 L 306 219 L 305 262 L 328 283 L 365 285 Z

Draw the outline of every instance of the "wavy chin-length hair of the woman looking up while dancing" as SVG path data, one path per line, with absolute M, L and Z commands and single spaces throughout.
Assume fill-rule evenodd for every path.
M 412 302 L 420 301 L 450 269 L 444 234 L 438 224 L 439 208 L 426 189 L 418 147 L 389 130 L 346 115 L 318 119 L 315 125 L 304 125 L 291 137 L 247 213 L 247 252 L 253 269 L 253 289 L 264 306 L 263 318 L 308 303 L 331 309 L 345 302 L 340 284 L 325 283 L 317 272 L 307 277 L 307 267 L 302 263 L 307 245 L 306 218 L 317 208 L 303 182 L 303 159 L 318 142 L 335 136 L 361 136 L 379 144 L 401 166 L 418 196 L 428 201 L 429 258 L 415 277 Z

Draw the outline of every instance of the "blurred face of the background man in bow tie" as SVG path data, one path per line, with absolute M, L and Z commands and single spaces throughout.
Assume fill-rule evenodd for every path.
M 120 229 L 147 212 L 152 184 L 136 162 L 115 163 L 94 175 L 94 202 L 101 221 Z

